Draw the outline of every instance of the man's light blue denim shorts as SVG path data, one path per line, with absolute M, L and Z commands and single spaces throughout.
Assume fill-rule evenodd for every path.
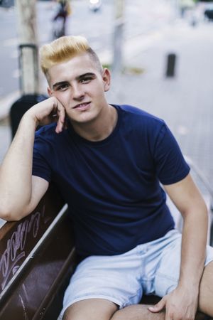
M 121 309 L 138 304 L 143 294 L 165 296 L 178 284 L 180 250 L 181 234 L 170 230 L 122 255 L 87 257 L 70 279 L 59 319 L 68 306 L 84 299 L 107 299 Z M 213 247 L 207 246 L 205 265 L 212 260 Z

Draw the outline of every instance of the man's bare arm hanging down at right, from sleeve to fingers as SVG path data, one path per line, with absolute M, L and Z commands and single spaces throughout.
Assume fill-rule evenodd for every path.
M 195 319 L 207 245 L 207 206 L 190 174 L 164 188 L 184 220 L 180 279 L 178 287 L 150 311 L 165 308 L 165 320 Z

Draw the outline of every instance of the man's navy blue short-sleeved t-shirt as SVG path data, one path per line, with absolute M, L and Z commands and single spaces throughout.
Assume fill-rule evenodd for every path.
M 118 121 L 106 139 L 90 142 L 71 124 L 35 133 L 33 175 L 54 181 L 70 208 L 79 255 L 117 255 L 174 228 L 160 183 L 190 171 L 163 120 L 114 105 Z

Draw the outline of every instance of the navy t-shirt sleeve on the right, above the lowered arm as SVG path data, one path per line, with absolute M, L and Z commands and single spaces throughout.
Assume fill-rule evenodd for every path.
M 156 174 L 163 184 L 181 181 L 190 172 L 190 166 L 182 156 L 178 142 L 165 123 L 155 142 L 154 161 Z

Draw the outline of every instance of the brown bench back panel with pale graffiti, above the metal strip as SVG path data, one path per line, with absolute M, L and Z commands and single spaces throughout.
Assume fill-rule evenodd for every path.
M 53 197 L 58 201 L 57 206 L 53 204 Z M 50 188 L 47 197 L 40 201 L 31 215 L 18 223 L 6 223 L 0 229 L 0 293 L 30 255 L 61 207 L 60 197 L 54 188 Z

